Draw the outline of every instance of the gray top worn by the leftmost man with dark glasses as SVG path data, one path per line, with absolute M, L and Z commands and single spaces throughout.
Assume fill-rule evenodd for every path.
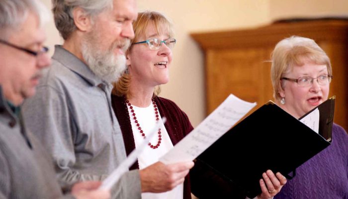
M 57 198 L 63 195 L 51 159 L 9 109 L 0 87 L 0 199 Z

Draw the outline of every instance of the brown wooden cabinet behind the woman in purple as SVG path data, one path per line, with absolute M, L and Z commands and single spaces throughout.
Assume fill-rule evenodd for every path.
M 274 23 L 255 29 L 191 34 L 205 53 L 207 114 L 230 93 L 256 101 L 257 107 L 274 100 L 270 54 L 277 42 L 291 35 L 314 39 L 330 57 L 334 78 L 329 97 L 336 95 L 335 122 L 348 130 L 347 20 Z

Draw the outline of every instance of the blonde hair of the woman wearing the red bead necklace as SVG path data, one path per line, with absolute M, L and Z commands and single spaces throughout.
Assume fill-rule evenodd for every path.
M 146 34 L 146 28 L 154 24 L 158 34 L 161 34 L 164 30 L 168 30 L 169 36 L 174 37 L 174 31 L 172 29 L 172 23 L 168 18 L 156 11 L 144 11 L 138 13 L 138 18 L 133 22 L 134 38 L 131 40 L 131 46 L 128 48 L 126 54 L 130 53 L 135 42 L 139 42 L 138 39 Z M 113 84 L 112 93 L 116 96 L 130 97 L 129 85 L 131 83 L 131 76 L 129 73 L 124 73 L 118 80 Z M 160 87 L 155 88 L 155 95 L 160 94 Z

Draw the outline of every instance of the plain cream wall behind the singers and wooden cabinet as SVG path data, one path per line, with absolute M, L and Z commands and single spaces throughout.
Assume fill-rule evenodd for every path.
M 51 0 L 42 1 L 51 6 Z M 160 96 L 174 100 L 196 126 L 205 117 L 204 55 L 190 33 L 255 27 L 283 17 L 347 16 L 348 0 L 138 0 L 138 8 L 163 12 L 174 23 L 171 80 Z M 62 43 L 53 20 L 47 33 L 51 49 Z

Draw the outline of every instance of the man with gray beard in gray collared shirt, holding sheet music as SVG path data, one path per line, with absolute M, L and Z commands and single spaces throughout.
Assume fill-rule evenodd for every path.
M 64 191 L 78 181 L 102 180 L 126 158 L 111 106 L 111 83 L 125 70 L 124 53 L 134 37 L 135 0 L 53 0 L 55 47 L 37 95 L 24 103 L 28 128 L 54 159 Z M 192 162 L 155 163 L 125 173 L 112 198 L 139 199 L 182 183 Z

